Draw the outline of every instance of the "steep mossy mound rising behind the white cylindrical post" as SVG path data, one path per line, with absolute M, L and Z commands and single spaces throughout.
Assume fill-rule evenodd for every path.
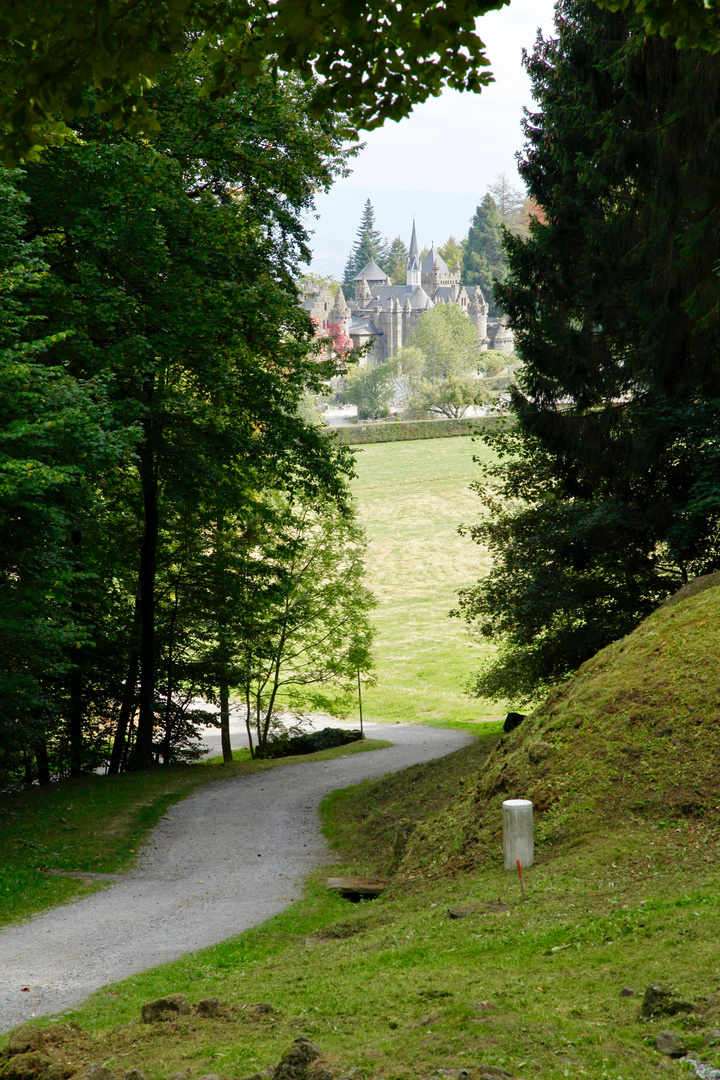
M 497 859 L 506 798 L 532 799 L 541 849 L 609 823 L 717 826 L 719 645 L 720 589 L 655 611 L 498 740 L 451 806 L 413 834 L 400 876 Z

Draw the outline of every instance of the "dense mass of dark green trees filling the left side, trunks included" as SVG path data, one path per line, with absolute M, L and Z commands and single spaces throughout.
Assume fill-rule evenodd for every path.
M 91 113 L 3 191 L 5 773 L 23 746 L 44 779 L 191 753 L 218 522 L 267 487 L 347 502 L 299 408 L 342 365 L 294 284 L 339 135 L 299 83 L 200 82 L 161 75 L 162 137 Z

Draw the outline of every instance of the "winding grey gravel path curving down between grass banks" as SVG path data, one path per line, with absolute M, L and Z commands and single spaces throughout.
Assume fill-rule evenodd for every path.
M 366 732 L 394 745 L 209 784 L 171 807 L 137 869 L 0 931 L 0 1031 L 281 912 L 307 874 L 329 861 L 317 813 L 324 795 L 470 742 L 410 725 L 366 725 Z

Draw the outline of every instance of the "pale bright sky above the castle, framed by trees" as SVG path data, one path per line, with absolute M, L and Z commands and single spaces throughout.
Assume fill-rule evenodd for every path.
M 512 0 L 478 21 L 495 81 L 480 94 L 445 91 L 399 122 L 366 133 L 352 175 L 317 199 L 311 222 L 312 269 L 341 276 L 366 199 L 380 231 L 406 243 L 417 218 L 420 245 L 467 232 L 476 205 L 498 173 L 517 187 L 515 154 L 522 147 L 522 107 L 532 108 L 522 49 L 538 28 L 553 27 L 552 0 Z

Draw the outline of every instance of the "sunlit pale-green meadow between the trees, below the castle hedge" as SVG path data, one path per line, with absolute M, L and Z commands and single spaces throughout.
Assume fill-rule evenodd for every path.
M 458 535 L 481 507 L 468 490 L 487 458 L 466 437 L 379 443 L 356 453 L 354 491 L 368 537 L 367 583 L 379 600 L 377 687 L 364 693 L 373 720 L 443 723 L 497 719 L 502 705 L 467 698 L 463 687 L 491 646 L 449 619 L 458 590 L 487 572 L 489 561 Z

